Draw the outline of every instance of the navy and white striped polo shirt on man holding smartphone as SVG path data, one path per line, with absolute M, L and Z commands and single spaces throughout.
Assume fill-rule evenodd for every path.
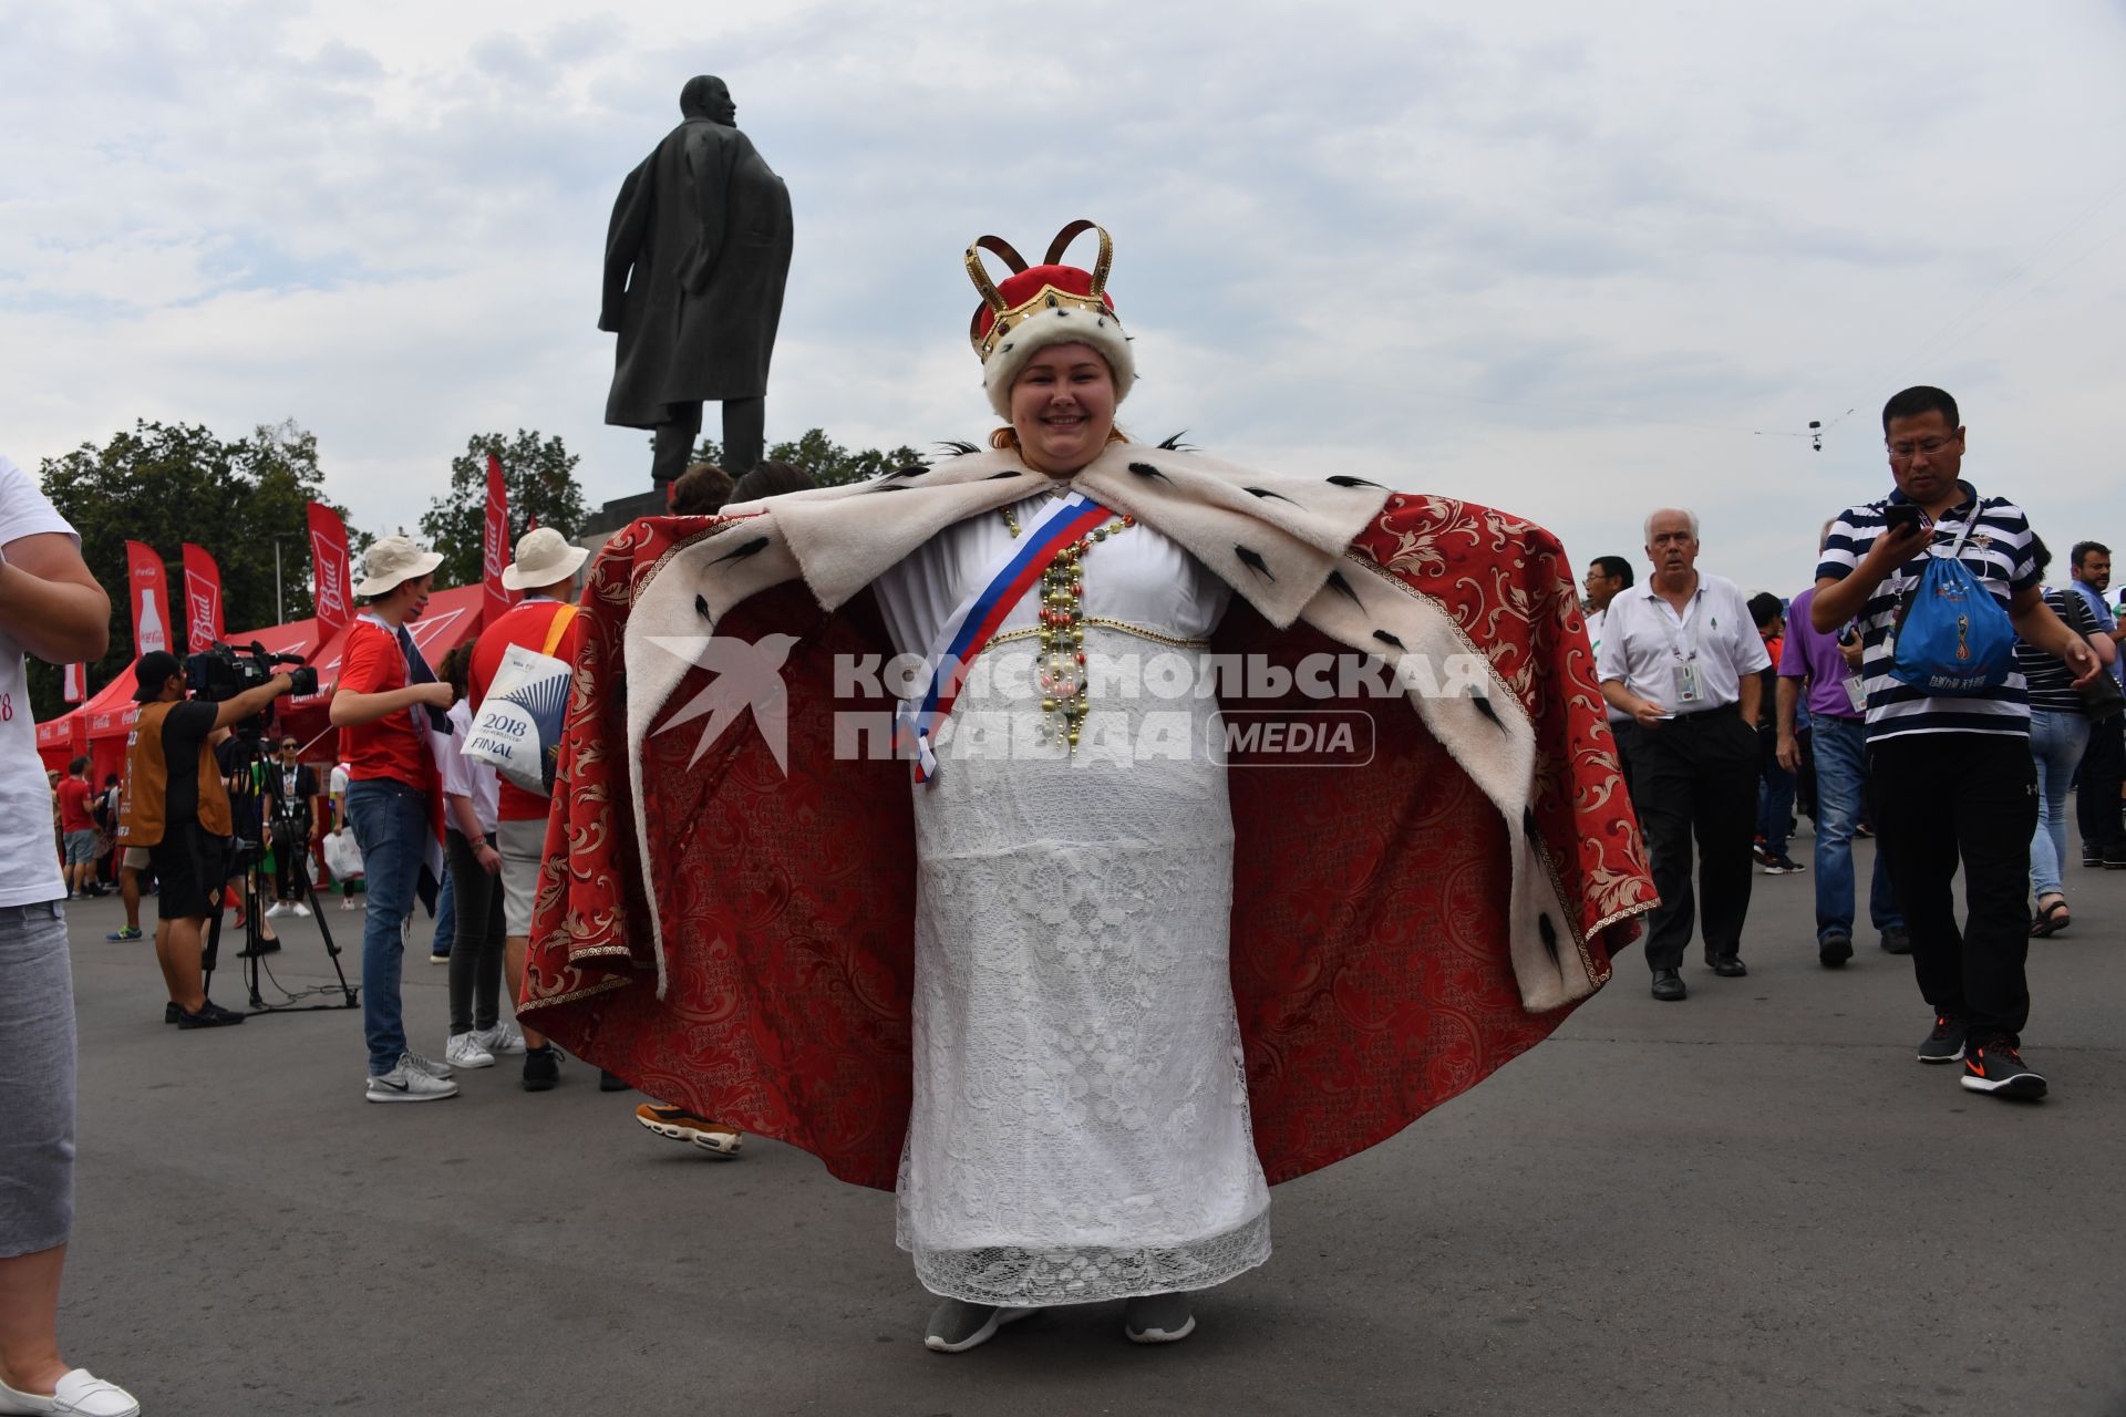
M 1956 486 L 1962 489 L 1964 499 L 1935 523 L 1930 554 L 1950 554 L 1956 533 L 1964 529 L 1964 520 L 1975 516 L 1960 561 L 2005 610 L 2015 591 L 2039 582 L 2037 563 L 2030 559 L 2030 518 L 2005 497 L 1979 497 L 1969 482 Z M 1845 580 L 1882 535 L 1882 514 L 1907 501 L 1905 493 L 1890 493 L 1882 501 L 1839 512 L 1837 520 L 1830 523 L 1830 540 L 1824 542 L 1816 578 Z M 1924 561 L 1913 557 L 1909 565 L 1886 576 L 1860 608 L 1860 676 L 1867 680 L 1869 741 L 1905 733 L 2028 735 L 2030 701 L 2022 673 L 2009 673 L 2001 684 L 1971 695 L 1930 695 L 1892 678 L 1890 629 L 1905 593 L 1920 584 L 1922 569 L 1926 569 Z

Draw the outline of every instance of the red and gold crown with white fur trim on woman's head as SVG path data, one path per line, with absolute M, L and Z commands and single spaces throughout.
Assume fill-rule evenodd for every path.
M 1086 232 L 1099 232 L 1099 259 L 1093 270 L 1063 266 L 1063 251 Z M 999 257 L 1012 274 L 1001 283 L 989 278 L 982 253 Z M 1048 257 L 1033 268 L 997 236 L 982 236 L 967 246 L 967 278 L 982 293 L 967 340 L 982 359 L 982 385 L 989 406 L 999 416 L 1012 416 L 1012 380 L 1035 351 L 1048 344 L 1091 344 L 1114 372 L 1114 399 L 1129 397 L 1137 382 L 1137 361 L 1129 353 L 1129 336 L 1108 295 L 1108 270 L 1114 266 L 1114 242 L 1106 227 L 1074 221 L 1048 242 Z

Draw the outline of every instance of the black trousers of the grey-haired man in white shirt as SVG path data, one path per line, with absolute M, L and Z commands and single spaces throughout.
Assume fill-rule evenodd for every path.
M 1648 918 L 1648 969 L 1682 969 L 1694 922 L 1705 926 L 1707 960 L 1737 954 L 1754 869 L 1756 731 L 1728 705 L 1658 729 L 1622 724 L 1620 737 L 1629 739 L 1631 805 L 1639 812 L 1660 892 Z

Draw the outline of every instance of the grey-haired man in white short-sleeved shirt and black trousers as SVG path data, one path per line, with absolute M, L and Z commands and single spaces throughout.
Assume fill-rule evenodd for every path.
M 1692 916 L 1705 928 L 1705 962 L 1726 979 L 1741 962 L 1750 914 L 1750 843 L 1756 835 L 1756 722 L 1771 663 L 1750 605 L 1724 576 L 1701 574 L 1699 518 L 1665 508 L 1646 518 L 1646 586 L 1609 601 L 1594 671 L 1612 707 L 1629 714 L 1618 739 L 1631 761 L 1631 805 L 1654 865 L 1646 964 L 1654 998 L 1677 1001 Z M 1692 892 L 1692 837 L 1697 863 Z

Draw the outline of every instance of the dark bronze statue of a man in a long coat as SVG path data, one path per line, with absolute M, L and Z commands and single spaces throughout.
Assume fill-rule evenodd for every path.
M 657 433 L 651 476 L 678 478 L 723 404 L 723 467 L 761 461 L 767 357 L 791 268 L 791 198 L 738 132 L 721 79 L 689 79 L 685 121 L 621 183 L 597 327 L 621 336 L 606 423 Z

